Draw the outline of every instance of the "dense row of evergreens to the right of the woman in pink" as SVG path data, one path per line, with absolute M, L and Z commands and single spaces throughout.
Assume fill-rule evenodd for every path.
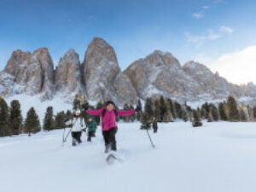
M 245 122 L 256 121 L 256 107 L 236 102 L 233 96 L 229 96 L 227 101 L 219 102 L 218 105 L 205 102 L 201 108 L 192 109 L 186 104 L 181 105 L 170 98 L 160 96 L 160 99 L 147 98 L 143 113 L 138 114 L 137 119 L 143 123 L 143 127 L 148 127 L 148 122 L 154 117 L 158 122 L 173 122 L 175 119 L 183 119 L 192 122 L 193 126 L 201 126 L 201 119 L 207 122 L 218 120 Z

